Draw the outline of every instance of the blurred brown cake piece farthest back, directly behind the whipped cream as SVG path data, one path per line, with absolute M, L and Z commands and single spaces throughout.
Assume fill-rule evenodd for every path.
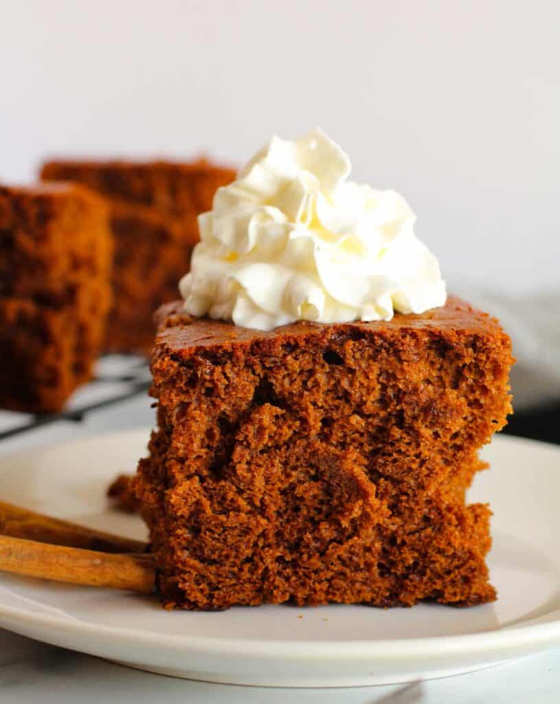
M 179 279 L 189 270 L 196 216 L 212 207 L 215 190 L 234 179 L 234 170 L 203 160 L 51 161 L 41 176 L 81 182 L 108 197 L 115 261 L 106 349 L 148 352 L 153 313 L 177 298 Z

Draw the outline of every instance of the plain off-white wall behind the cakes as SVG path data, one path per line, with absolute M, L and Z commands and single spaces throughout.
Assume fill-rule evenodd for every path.
M 322 126 L 446 277 L 560 284 L 557 0 L 0 0 L 0 178 Z

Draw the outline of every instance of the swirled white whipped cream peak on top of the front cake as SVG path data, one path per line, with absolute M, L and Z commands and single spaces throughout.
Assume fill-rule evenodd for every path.
M 270 330 L 296 320 L 390 320 L 445 304 L 438 261 L 395 191 L 348 180 L 321 130 L 272 137 L 198 218 L 179 283 L 187 313 Z

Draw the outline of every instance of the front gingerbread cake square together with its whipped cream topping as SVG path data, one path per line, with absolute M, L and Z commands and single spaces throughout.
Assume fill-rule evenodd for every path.
M 274 137 L 160 310 L 134 491 L 169 608 L 496 596 L 466 490 L 511 412 L 509 337 L 349 172 L 320 130 Z

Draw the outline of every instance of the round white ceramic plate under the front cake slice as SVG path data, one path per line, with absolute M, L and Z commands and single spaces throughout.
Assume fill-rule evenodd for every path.
M 138 517 L 107 508 L 148 430 L 1 458 L 1 498 L 144 538 Z M 177 677 L 268 686 L 386 684 L 468 672 L 560 643 L 560 448 L 495 439 L 471 499 L 490 501 L 499 600 L 433 604 L 260 606 L 165 612 L 156 598 L 0 572 L 0 626 L 40 641 Z

